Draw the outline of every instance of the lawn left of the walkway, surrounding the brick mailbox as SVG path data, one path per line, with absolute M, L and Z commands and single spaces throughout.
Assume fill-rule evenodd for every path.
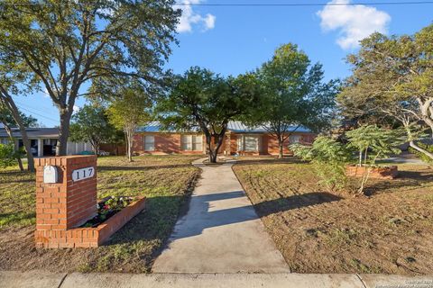
M 190 165 L 198 157 L 99 157 L 99 198 L 145 195 L 147 203 L 106 246 L 89 249 L 34 248 L 34 175 L 0 172 L 0 270 L 149 272 L 198 179 Z

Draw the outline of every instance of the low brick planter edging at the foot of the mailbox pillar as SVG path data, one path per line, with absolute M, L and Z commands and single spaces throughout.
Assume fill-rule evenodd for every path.
M 143 211 L 146 198 L 139 196 L 95 228 L 73 228 L 56 231 L 35 231 L 37 247 L 99 247 L 124 224 Z

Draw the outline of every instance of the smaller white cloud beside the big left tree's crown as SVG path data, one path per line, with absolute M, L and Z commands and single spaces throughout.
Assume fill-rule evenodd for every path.
M 191 32 L 194 25 L 199 25 L 203 31 L 214 29 L 217 20 L 215 15 L 206 14 L 206 16 L 202 16 L 192 9 L 191 4 L 199 4 L 200 2 L 202 0 L 180 0 L 178 3 L 183 5 L 175 5 L 175 8 L 182 10 L 180 23 L 177 27 L 178 32 Z

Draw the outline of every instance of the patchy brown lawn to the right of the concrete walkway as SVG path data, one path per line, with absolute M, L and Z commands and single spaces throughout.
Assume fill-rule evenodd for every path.
M 291 271 L 423 275 L 433 270 L 433 170 L 399 165 L 369 196 L 327 193 L 294 159 L 240 158 L 246 193 Z M 354 185 L 357 179 L 351 179 Z

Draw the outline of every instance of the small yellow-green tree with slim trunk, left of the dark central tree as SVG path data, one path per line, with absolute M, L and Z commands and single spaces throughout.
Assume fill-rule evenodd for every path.
M 126 86 L 117 91 L 117 96 L 109 104 L 106 111 L 108 119 L 116 129 L 124 130 L 126 139 L 126 155 L 133 161 L 133 144 L 135 130 L 152 120 L 152 101 L 139 85 Z

